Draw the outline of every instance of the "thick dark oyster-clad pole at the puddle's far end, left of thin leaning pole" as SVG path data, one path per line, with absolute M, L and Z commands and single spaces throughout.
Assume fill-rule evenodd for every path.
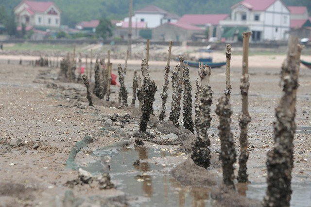
M 152 113 L 153 104 L 155 101 L 155 92 L 156 92 L 156 85 L 155 81 L 150 80 L 149 73 L 148 73 L 148 65 L 147 60 L 144 59 L 141 61 L 141 72 L 144 77 L 143 80 L 143 103 L 141 106 L 141 117 L 139 121 L 139 130 L 146 131 L 147 130 L 147 123 L 150 118 L 150 114 Z

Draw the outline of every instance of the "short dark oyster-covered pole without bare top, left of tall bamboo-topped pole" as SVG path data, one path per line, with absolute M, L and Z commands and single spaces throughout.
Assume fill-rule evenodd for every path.
M 237 161 L 237 153 L 235 151 L 233 134 L 230 130 L 231 124 L 231 104 L 229 96 L 219 98 L 216 105 L 216 113 L 219 115 L 219 138 L 221 144 L 220 159 L 223 167 L 223 180 L 226 186 L 230 189 L 234 187 L 234 167 L 233 164 Z

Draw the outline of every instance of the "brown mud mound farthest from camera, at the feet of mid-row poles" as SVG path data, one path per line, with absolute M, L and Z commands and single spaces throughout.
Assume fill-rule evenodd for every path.
M 176 139 L 176 143 L 184 143 L 185 141 L 187 141 L 187 139 L 194 139 L 194 134 L 190 130 L 183 127 L 177 128 L 175 127 L 175 125 L 173 125 L 173 122 L 171 121 L 158 122 L 156 124 L 156 127 L 157 130 L 165 135 L 171 133 L 176 134 L 178 136 L 178 138 Z

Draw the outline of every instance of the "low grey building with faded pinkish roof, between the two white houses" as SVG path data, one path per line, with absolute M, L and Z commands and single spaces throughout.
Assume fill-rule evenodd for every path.
M 196 40 L 196 35 L 202 35 L 205 29 L 182 22 L 168 22 L 152 30 L 152 39 L 160 41 Z

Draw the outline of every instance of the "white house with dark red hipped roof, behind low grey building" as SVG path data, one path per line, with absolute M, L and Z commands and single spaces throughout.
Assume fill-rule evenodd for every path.
M 134 11 L 135 15 L 132 16 L 132 22 L 146 22 L 148 28 L 155 28 L 161 24 L 167 22 L 176 23 L 179 16 L 169 13 L 154 5 L 146 6 L 142 9 Z M 124 18 L 125 22 L 129 21 L 129 18 Z

